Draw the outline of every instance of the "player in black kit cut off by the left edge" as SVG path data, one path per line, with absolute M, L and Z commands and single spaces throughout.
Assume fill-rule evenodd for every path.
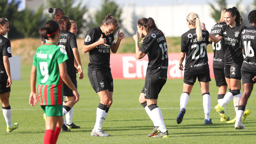
M 0 48 L 1 48 L 1 58 L 0 58 L 0 100 L 2 103 L 2 111 L 4 119 L 7 124 L 7 132 L 12 132 L 18 128 L 18 123 L 12 124 L 12 109 L 9 104 L 9 97 L 11 92 L 11 70 L 9 57 L 12 57 L 11 43 L 10 40 L 4 36 L 9 30 L 9 23 L 6 19 L 0 18 Z

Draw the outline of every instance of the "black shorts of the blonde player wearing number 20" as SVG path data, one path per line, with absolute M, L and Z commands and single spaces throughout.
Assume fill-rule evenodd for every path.
M 198 79 L 200 82 L 209 82 L 211 81 L 210 72 L 200 74 L 184 74 L 183 81 L 185 84 L 194 85 L 196 79 Z

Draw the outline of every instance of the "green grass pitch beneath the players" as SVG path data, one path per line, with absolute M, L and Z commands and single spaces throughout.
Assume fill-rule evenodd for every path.
M 19 122 L 19 128 L 12 133 L 6 132 L 6 123 L 0 116 L 0 143 L 42 143 L 45 124 L 40 106 L 30 106 L 30 69 L 22 66 L 21 81 L 13 81 L 10 97 L 13 122 Z M 84 68 L 86 71 L 86 68 Z M 256 141 L 255 91 L 247 103 L 252 113 L 245 119 L 248 130 L 236 130 L 234 124 L 220 121 L 214 110 L 217 104 L 218 88 L 215 80 L 210 82 L 211 114 L 213 125 L 204 125 L 204 112 L 200 86 L 196 82 L 186 107 L 186 114 L 181 124 L 176 123 L 179 113 L 182 79 L 168 79 L 158 99 L 169 138 L 150 138 L 153 124 L 143 107 L 138 102 L 144 80 L 114 80 L 113 105 L 103 123 L 103 129 L 111 137 L 91 137 L 90 132 L 95 124 L 96 108 L 100 99 L 92 89 L 85 74 L 78 80 L 80 100 L 74 106 L 73 121 L 80 129 L 61 132 L 57 143 L 253 143 Z M 229 117 L 234 118 L 233 102 L 227 105 Z M 1 114 L 2 115 L 2 114 Z

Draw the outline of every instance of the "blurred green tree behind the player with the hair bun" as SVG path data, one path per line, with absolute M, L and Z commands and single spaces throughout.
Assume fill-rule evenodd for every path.
M 86 26 L 86 21 L 83 19 L 83 15 L 88 11 L 86 6 L 82 6 L 82 0 L 79 1 L 77 6 L 74 6 L 75 0 L 49 0 L 48 9 L 50 7 L 59 7 L 65 12 L 65 16 L 70 20 L 74 20 L 79 28 L 77 34 L 82 32 L 82 29 Z M 52 19 L 52 16 L 51 16 Z

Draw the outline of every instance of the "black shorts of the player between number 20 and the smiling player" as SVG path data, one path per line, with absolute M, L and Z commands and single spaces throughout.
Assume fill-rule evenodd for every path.
M 225 79 L 224 68 L 213 68 L 213 73 L 217 87 L 228 85 Z

